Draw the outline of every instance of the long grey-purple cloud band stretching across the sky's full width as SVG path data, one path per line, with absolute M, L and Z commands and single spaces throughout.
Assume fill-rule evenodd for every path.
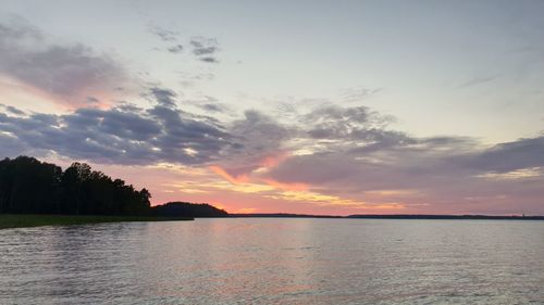
M 282 163 L 271 177 L 314 183 L 355 175 L 359 178 L 353 183 L 368 188 L 421 187 L 544 168 L 544 136 L 486 149 L 467 137 L 412 137 L 387 129 L 391 118 L 367 107 L 338 106 L 318 107 L 288 125 L 258 111 L 246 111 L 243 118 L 224 124 L 180 110 L 172 90 L 151 88 L 148 96 L 156 102 L 150 109 L 121 103 L 66 115 L 28 115 L 3 106 L 0 132 L 5 141 L 18 141 L 16 147 L 124 164 L 220 161 L 225 167 L 252 170 L 264 157 L 302 149 L 307 152 Z M 222 111 L 218 103 L 200 106 L 210 113 Z M 185 149 L 198 153 L 188 155 Z

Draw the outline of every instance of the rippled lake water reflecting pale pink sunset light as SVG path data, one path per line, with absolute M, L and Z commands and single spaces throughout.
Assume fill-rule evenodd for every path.
M 544 304 L 544 221 L 0 230 L 0 304 Z

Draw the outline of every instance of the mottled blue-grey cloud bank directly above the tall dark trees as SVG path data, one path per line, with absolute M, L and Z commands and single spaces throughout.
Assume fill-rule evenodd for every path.
M 0 135 L 20 153 L 54 151 L 74 160 L 115 164 L 203 164 L 235 143 L 217 120 L 169 103 L 170 91 L 156 88 L 152 94 L 157 105 L 151 109 L 124 104 L 110 110 L 78 109 L 66 115 L 0 113 Z M 12 155 L 13 149 L 1 152 Z

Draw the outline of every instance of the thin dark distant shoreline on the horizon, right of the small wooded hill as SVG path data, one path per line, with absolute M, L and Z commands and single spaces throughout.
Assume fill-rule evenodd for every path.
M 379 215 L 379 214 L 361 214 L 349 216 L 334 215 L 307 215 L 307 214 L 286 214 L 286 213 L 270 213 L 270 214 L 230 214 L 230 217 L 235 218 L 341 218 L 341 219 L 474 219 L 474 220 L 544 220 L 544 216 L 496 216 L 496 215 L 418 215 L 418 214 L 397 214 L 397 215 Z

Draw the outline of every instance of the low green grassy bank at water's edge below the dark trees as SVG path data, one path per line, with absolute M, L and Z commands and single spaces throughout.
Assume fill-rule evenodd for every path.
M 120 221 L 173 221 L 193 219 L 191 217 L 0 214 L 0 229 Z

